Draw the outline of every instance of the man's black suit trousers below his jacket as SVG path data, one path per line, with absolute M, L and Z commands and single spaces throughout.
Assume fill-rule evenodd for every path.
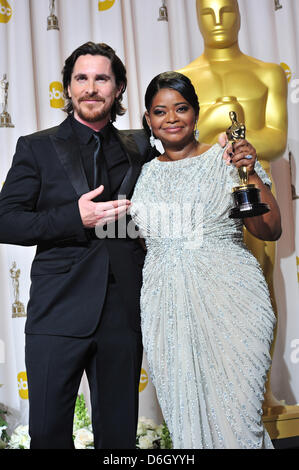
M 95 448 L 135 448 L 142 341 L 129 326 L 115 283 L 109 284 L 94 334 L 26 335 L 25 356 L 32 449 L 74 448 L 74 407 L 84 370 Z

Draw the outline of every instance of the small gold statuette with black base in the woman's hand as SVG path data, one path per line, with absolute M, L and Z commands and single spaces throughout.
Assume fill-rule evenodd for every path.
M 245 139 L 246 128 L 237 120 L 235 111 L 230 111 L 229 117 L 232 125 L 226 130 L 228 141 L 234 146 L 235 142 Z M 233 188 L 233 198 L 235 207 L 230 210 L 231 219 L 243 219 L 245 217 L 255 217 L 269 212 L 269 206 L 260 201 L 260 190 L 254 184 L 248 183 L 247 167 L 238 169 L 240 186 Z

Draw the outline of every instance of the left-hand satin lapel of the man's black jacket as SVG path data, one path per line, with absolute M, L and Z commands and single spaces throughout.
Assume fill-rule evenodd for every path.
M 63 121 L 57 133 L 50 138 L 78 196 L 88 193 L 90 189 L 81 161 L 79 142 L 73 132 L 70 118 Z

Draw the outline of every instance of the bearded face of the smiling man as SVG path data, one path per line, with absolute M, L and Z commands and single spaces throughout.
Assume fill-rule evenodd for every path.
M 74 117 L 83 124 L 110 119 L 110 111 L 122 90 L 116 86 L 110 59 L 101 55 L 81 55 L 75 62 L 68 94 Z

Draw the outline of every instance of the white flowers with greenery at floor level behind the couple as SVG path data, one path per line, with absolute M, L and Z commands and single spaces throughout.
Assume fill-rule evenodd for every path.
M 1 440 L 1 436 L 3 434 L 6 436 L 7 423 L 3 421 L 1 424 L 0 448 L 30 449 L 28 425 L 18 426 L 10 439 L 4 441 Z M 76 402 L 73 439 L 75 449 L 94 449 L 91 420 L 83 394 L 78 396 Z M 2 447 L 1 443 L 3 443 Z M 171 439 L 166 425 L 157 425 L 152 419 L 141 417 L 138 421 L 136 447 L 138 449 L 171 449 Z

